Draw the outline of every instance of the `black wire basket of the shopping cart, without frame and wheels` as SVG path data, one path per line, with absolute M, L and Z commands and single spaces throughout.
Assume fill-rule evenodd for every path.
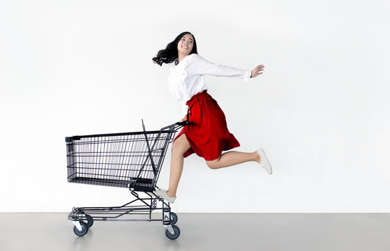
M 66 137 L 68 182 L 153 191 L 167 146 L 179 126 Z

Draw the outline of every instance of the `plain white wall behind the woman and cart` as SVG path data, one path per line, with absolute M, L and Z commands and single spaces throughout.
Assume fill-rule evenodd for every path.
M 264 75 L 207 77 L 255 163 L 185 160 L 177 212 L 389 212 L 388 1 L 1 1 L 1 212 L 119 205 L 128 190 L 66 182 L 64 137 L 181 119 L 170 66 L 191 31 L 209 61 Z M 158 184 L 167 187 L 170 154 Z

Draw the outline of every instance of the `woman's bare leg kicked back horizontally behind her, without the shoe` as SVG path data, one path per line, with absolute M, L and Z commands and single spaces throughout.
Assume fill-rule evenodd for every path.
M 211 169 L 218 169 L 221 167 L 230 167 L 232 165 L 237 165 L 248 161 L 260 162 L 260 160 L 260 155 L 257 152 L 241 153 L 237 151 L 230 151 L 223 153 L 216 160 L 207 160 L 206 162 Z

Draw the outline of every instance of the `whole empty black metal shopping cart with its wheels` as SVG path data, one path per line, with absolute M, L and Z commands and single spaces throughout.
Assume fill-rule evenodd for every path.
M 153 191 L 158 188 L 167 146 L 186 124 L 146 131 L 142 121 L 142 132 L 66 137 L 68 182 L 128 188 L 135 197 L 123 206 L 73 208 L 68 219 L 77 236 L 87 234 L 96 220 L 146 220 L 163 222 L 167 238 L 179 237 L 180 229 L 174 225 L 177 215 L 171 212 L 170 203 Z

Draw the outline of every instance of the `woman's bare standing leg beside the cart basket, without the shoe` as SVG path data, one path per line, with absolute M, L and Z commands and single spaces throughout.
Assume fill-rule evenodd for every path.
M 183 154 L 190 148 L 190 143 L 188 143 L 184 134 L 178 137 L 172 144 L 170 188 L 167 190 L 169 197 L 176 196 L 177 186 L 179 185 L 181 173 L 183 172 Z

